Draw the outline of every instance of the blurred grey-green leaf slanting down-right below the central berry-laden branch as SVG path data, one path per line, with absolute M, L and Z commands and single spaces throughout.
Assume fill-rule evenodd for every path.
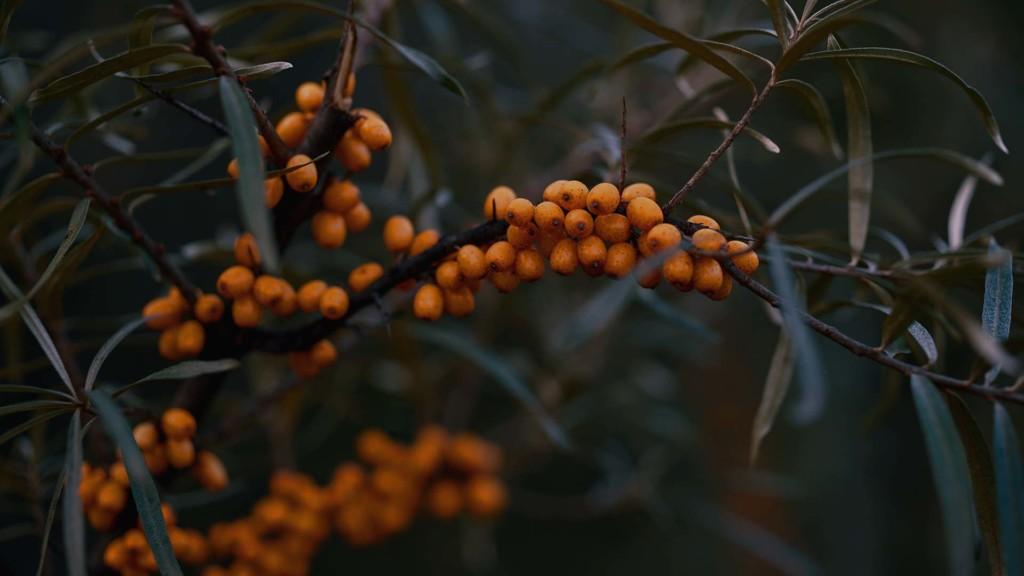
M 447 349 L 482 368 L 526 409 L 552 444 L 562 450 L 571 449 L 572 443 L 565 431 L 544 410 L 544 406 L 522 381 L 519 374 L 500 356 L 487 352 L 472 338 L 424 324 L 414 325 L 413 334 L 425 342 Z

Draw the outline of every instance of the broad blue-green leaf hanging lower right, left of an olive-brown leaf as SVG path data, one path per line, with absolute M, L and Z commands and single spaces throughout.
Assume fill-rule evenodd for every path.
M 925 437 L 935 490 L 942 509 L 946 533 L 946 553 L 950 574 L 974 571 L 974 510 L 971 479 L 964 445 L 956 434 L 949 407 L 932 382 L 910 376 L 910 390 L 918 409 L 918 421 Z

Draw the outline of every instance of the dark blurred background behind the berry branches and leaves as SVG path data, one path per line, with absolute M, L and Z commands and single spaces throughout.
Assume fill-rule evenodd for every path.
M 41 58 L 70 36 L 124 24 L 147 4 L 26 2 L 12 20 L 8 50 Z M 196 4 L 213 13 L 231 3 Z M 582 74 L 592 63 L 613 60 L 653 40 L 598 2 L 393 4 L 380 28 L 434 56 L 464 84 L 469 101 L 442 90 L 394 52 L 369 44 L 355 101 L 379 111 L 395 131 L 393 148 L 355 177 L 374 210 L 374 228 L 331 254 L 301 233 L 285 258 L 295 278 L 315 272 L 340 281 L 353 263 L 383 261 L 379 227 L 391 213 L 415 213 L 420 225 L 453 232 L 479 219 L 484 195 L 500 183 L 538 198 L 544 184 L 556 178 L 591 184 L 613 178 L 622 98 L 629 110 L 630 141 L 685 99 L 675 77 L 676 54 L 612 74 Z M 754 0 L 634 4 L 698 36 L 745 26 L 770 28 L 767 11 Z M 1024 120 L 1017 114 L 1024 104 L 1022 11 L 1019 2 L 1009 0 L 880 2 L 868 10 L 873 22 L 850 29 L 844 39 L 855 46 L 919 50 L 949 66 L 988 97 L 1016 153 L 1024 148 Z M 282 11 L 229 27 L 218 40 L 239 63 L 294 65 L 252 83 L 276 119 L 292 110 L 294 88 L 316 79 L 333 61 L 337 35 L 332 30 L 340 31 L 340 26 L 328 18 Z M 766 39 L 741 44 L 770 56 L 776 51 Z M 124 47 L 114 42 L 99 50 L 109 56 Z M 877 150 L 941 147 L 975 158 L 994 152 L 975 110 L 952 83 L 887 63 L 866 63 L 861 69 Z M 685 81 L 699 85 L 710 75 L 697 67 Z M 833 66 L 803 64 L 791 75 L 813 82 L 825 94 L 842 139 L 842 92 Z M 758 78 L 763 77 L 759 71 Z M 48 126 L 89 117 L 131 93 L 130 84 L 106 80 L 73 101 L 37 110 L 35 120 Z M 185 99 L 220 114 L 215 92 L 197 91 Z M 732 89 L 688 114 L 708 116 L 719 106 L 735 118 L 746 104 L 748 95 Z M 800 105 L 792 94 L 776 92 L 754 121 L 754 127 L 780 145 L 780 156 L 765 153 L 753 140 L 740 140 L 735 148 L 740 181 L 769 210 L 839 165 Z M 714 130 L 689 131 L 632 150 L 630 179 L 654 183 L 664 200 L 720 137 Z M 112 122 L 106 135 L 83 138 L 72 154 L 95 162 L 125 153 L 207 147 L 215 138 L 179 112 L 151 104 Z M 228 156 L 224 149 L 188 179 L 220 176 Z M 1024 168 L 1013 157 L 996 153 L 992 158 L 1007 183 L 1001 189 L 979 187 L 969 234 L 1024 211 L 1024 199 L 1015 193 Z M 97 176 L 112 191 L 124 191 L 159 182 L 194 159 L 120 163 L 100 169 Z M 6 158 L 4 173 L 10 162 Z M 40 159 L 40 168 L 45 164 Z M 925 160 L 880 163 L 872 225 L 902 238 L 912 251 L 936 249 L 936 240 L 946 236 L 949 206 L 962 178 L 954 168 Z M 685 213 L 712 213 L 738 231 L 726 182 L 725 169 L 716 168 L 690 196 Z M 56 187 L 48 196 L 67 195 L 68 190 Z M 793 243 L 848 258 L 845 194 L 845 183 L 837 182 L 780 232 Z M 228 261 L 239 225 L 230 190 L 160 196 L 135 213 L 186 260 L 193 279 L 212 285 L 218 266 Z M 46 220 L 50 228 L 39 227 L 30 238 L 59 230 L 66 218 Z M 1017 249 L 1021 227 L 996 237 Z M 869 239 L 868 252 L 882 261 L 897 256 L 877 235 Z M 814 280 L 808 277 L 808 282 Z M 980 314 L 982 283 L 979 273 L 950 291 Z M 62 298 L 67 329 L 82 344 L 83 361 L 160 289 L 138 254 L 108 237 Z M 837 300 L 863 292 L 844 280 L 828 291 Z M 882 315 L 847 307 L 826 318 L 864 341 L 879 340 Z M 485 525 L 421 521 L 368 550 L 331 540 L 317 559 L 317 574 L 860 575 L 945 570 L 942 521 L 925 446 L 912 401 L 896 375 L 815 340 L 827 381 L 817 390 L 794 382 L 759 461 L 749 464 L 751 423 L 778 328 L 763 303 L 743 290 L 717 303 L 666 287 L 641 296 L 608 280 L 549 274 L 509 296 L 484 291 L 476 312 L 465 320 L 423 327 L 397 314 L 381 327 L 381 319 L 370 315 L 360 333 L 342 335 L 345 351 L 336 368 L 217 448 L 234 481 L 231 490 L 211 501 L 198 494 L 171 498 L 183 525 L 203 527 L 245 513 L 276 466 L 295 465 L 325 481 L 334 465 L 351 457 L 352 439 L 367 426 L 408 437 L 424 422 L 439 421 L 478 431 L 505 448 L 512 496 L 508 512 Z M 439 339 L 457 343 L 437 345 Z M 0 379 L 31 368 L 39 358 L 34 346 L 30 340 L 22 349 L 8 346 L 3 353 L 6 378 Z M 489 353 L 487 362 L 466 362 L 460 355 L 466 346 Z M 966 374 L 971 369 L 972 357 L 963 343 L 948 342 L 944 352 L 942 370 Z M 111 382 L 130 381 L 162 365 L 155 337 L 139 334 L 113 357 L 103 376 Z M 575 449 L 554 448 L 496 374 L 525 383 Z M 50 374 L 43 369 L 26 377 L 45 381 Z M 207 421 L 215 425 L 286 377 L 280 360 L 250 359 L 229 377 Z M 812 395 L 813 403 L 813 395 L 822 390 L 820 413 L 809 422 L 794 421 L 793 406 L 807 401 L 804 395 Z M 158 384 L 141 389 L 137 400 L 157 410 L 172 393 L 172 384 Z M 54 447 L 43 460 L 48 472 L 60 463 L 57 447 L 63 428 L 60 420 L 55 422 L 45 433 Z M 16 460 L 18 450 L 27 448 L 8 450 L 7 458 Z M 29 573 L 38 539 L 13 528 L 31 524 L 31 510 L 40 503 L 11 493 L 2 501 L 0 524 L 11 527 L 12 535 L 0 542 L 0 572 Z M 47 500 L 40 501 L 45 506 Z

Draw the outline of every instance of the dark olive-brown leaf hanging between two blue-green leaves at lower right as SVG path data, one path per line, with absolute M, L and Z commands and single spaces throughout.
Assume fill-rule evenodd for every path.
M 995 511 L 995 472 L 992 466 L 992 453 L 964 400 L 948 392 L 943 396 L 959 433 L 961 443 L 964 445 L 968 471 L 971 474 L 971 489 L 974 492 L 974 510 L 981 537 L 985 541 L 985 549 L 988 551 L 990 572 L 994 576 L 1004 576 L 1006 569 L 1002 566 Z

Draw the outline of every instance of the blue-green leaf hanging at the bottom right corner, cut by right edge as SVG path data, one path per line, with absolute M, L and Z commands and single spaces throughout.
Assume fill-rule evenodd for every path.
M 998 402 L 992 409 L 992 452 L 1002 564 L 1007 574 L 1017 576 L 1024 574 L 1024 464 L 1010 413 Z

